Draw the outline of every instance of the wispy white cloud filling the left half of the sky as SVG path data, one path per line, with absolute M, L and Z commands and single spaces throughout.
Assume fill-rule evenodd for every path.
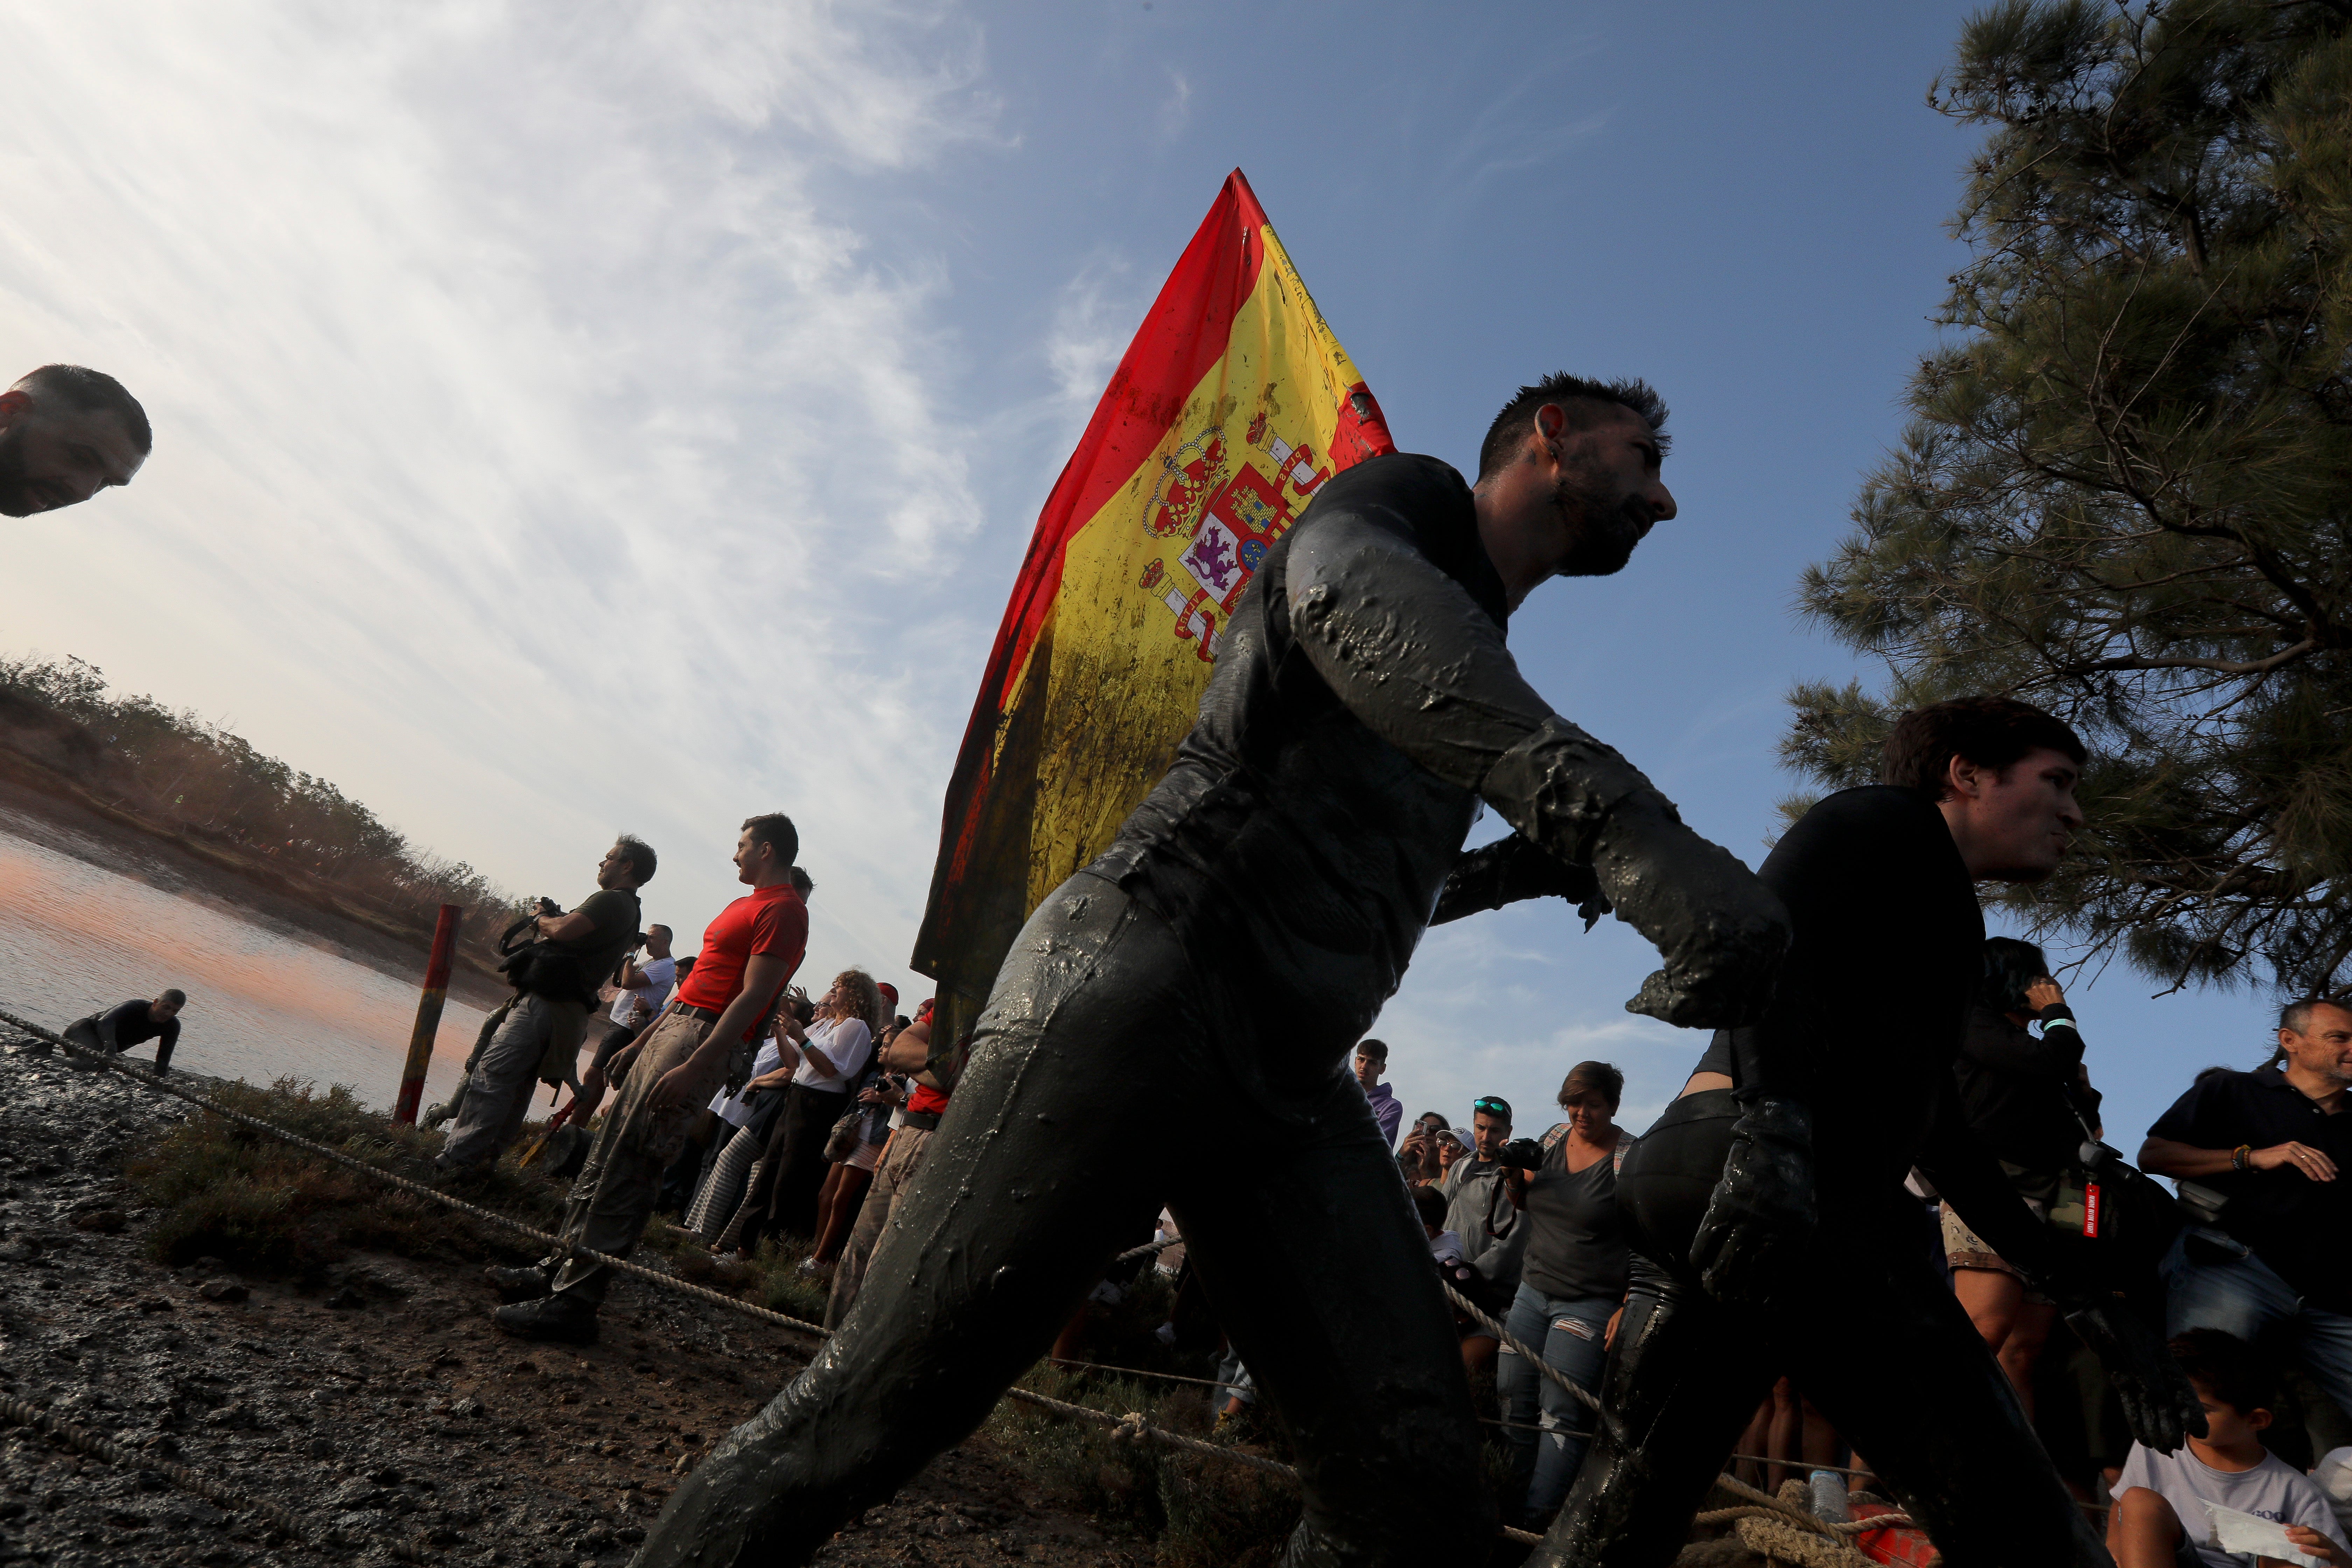
M 12 31 L 0 367 L 115 371 L 158 449 L 12 524 L 7 642 L 228 708 L 527 891 L 633 825 L 687 926 L 788 804 L 828 945 L 896 971 L 908 879 L 868 860 L 927 860 L 936 778 L 896 762 L 969 684 L 875 651 L 978 503 L 941 266 L 821 190 L 988 136 L 978 35 L 811 2 Z

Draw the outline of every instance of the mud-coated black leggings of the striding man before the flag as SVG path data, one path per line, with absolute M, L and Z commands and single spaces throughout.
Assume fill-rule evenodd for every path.
M 1195 964 L 1101 877 L 1051 893 L 840 1333 L 694 1469 L 637 1568 L 807 1561 L 981 1425 L 1162 1201 L 1298 1453 L 1284 1561 L 1479 1561 L 1494 1509 L 1428 1237 L 1352 1037 L 1270 1030 L 1268 985 Z M 1235 1060 L 1298 1088 L 1242 1091 Z

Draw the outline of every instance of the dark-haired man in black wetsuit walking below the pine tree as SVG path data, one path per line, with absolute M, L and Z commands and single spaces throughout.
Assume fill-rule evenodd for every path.
M 2107 1563 L 1931 1262 L 1903 1192 L 1915 1164 L 2067 1309 L 2143 1443 L 2204 1432 L 2154 1328 L 2070 1276 L 1952 1079 L 1983 983 L 1973 884 L 2058 867 L 2082 762 L 2039 708 L 1922 708 L 1886 743 L 1884 785 L 1828 797 L 1764 860 L 1797 940 L 1764 1020 L 1715 1037 L 1618 1173 L 1635 1272 L 1602 1436 L 1531 1563 L 1670 1563 L 1778 1375 L 1952 1568 Z

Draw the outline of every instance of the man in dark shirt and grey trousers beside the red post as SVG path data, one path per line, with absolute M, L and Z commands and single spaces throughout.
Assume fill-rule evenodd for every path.
M 437 1175 L 487 1171 L 532 1110 L 532 1086 L 576 1084 L 581 1041 L 595 992 L 621 964 L 644 907 L 637 889 L 654 879 L 654 846 L 621 835 L 595 867 L 597 891 L 569 914 L 541 914 L 539 940 L 508 961 L 515 999 L 452 1095 L 456 1126 L 433 1159 Z

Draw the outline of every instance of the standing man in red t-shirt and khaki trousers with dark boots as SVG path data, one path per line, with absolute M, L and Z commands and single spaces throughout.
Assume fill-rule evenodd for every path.
M 750 893 L 720 910 L 677 997 L 637 1044 L 612 1058 L 621 1100 L 597 1126 L 572 1185 L 564 1208 L 572 1246 L 626 1258 L 644 1234 L 661 1173 L 684 1147 L 694 1112 L 720 1084 L 736 1091 L 750 1077 L 750 1032 L 776 1006 L 809 945 L 809 910 L 793 891 L 797 856 L 793 818 L 779 811 L 743 823 L 734 860 Z M 579 1098 L 602 1100 L 604 1074 L 590 1067 Z M 501 1333 L 593 1345 L 612 1269 L 557 1253 L 529 1269 L 489 1269 L 489 1281 L 513 1302 L 492 1314 Z

